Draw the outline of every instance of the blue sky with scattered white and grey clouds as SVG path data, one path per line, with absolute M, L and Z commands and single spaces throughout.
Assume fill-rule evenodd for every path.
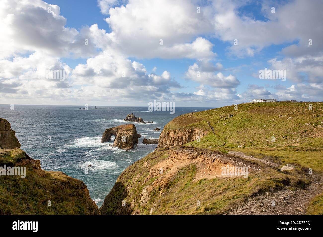
M 322 10 L 321 0 L 0 0 L 0 104 L 322 101 Z M 286 76 L 261 78 L 265 68 Z

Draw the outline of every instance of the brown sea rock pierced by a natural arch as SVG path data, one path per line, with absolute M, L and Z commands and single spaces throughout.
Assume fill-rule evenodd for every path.
M 113 146 L 126 151 L 133 149 L 134 145 L 138 144 L 138 133 L 135 125 L 133 124 L 108 128 L 102 135 L 101 143 L 110 141 L 112 135 L 115 136 Z

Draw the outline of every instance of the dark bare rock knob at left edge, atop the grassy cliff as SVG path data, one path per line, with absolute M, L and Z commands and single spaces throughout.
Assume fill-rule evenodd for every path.
M 14 149 L 20 148 L 20 143 L 16 138 L 16 132 L 11 129 L 11 124 L 0 118 L 0 148 L 2 149 Z

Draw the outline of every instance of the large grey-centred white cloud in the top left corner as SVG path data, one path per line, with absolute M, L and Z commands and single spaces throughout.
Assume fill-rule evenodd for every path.
M 0 59 L 16 54 L 43 52 L 52 56 L 89 57 L 97 54 L 96 45 L 85 45 L 88 27 L 79 32 L 65 27 L 60 8 L 40 0 L 2 0 L 0 8 Z

